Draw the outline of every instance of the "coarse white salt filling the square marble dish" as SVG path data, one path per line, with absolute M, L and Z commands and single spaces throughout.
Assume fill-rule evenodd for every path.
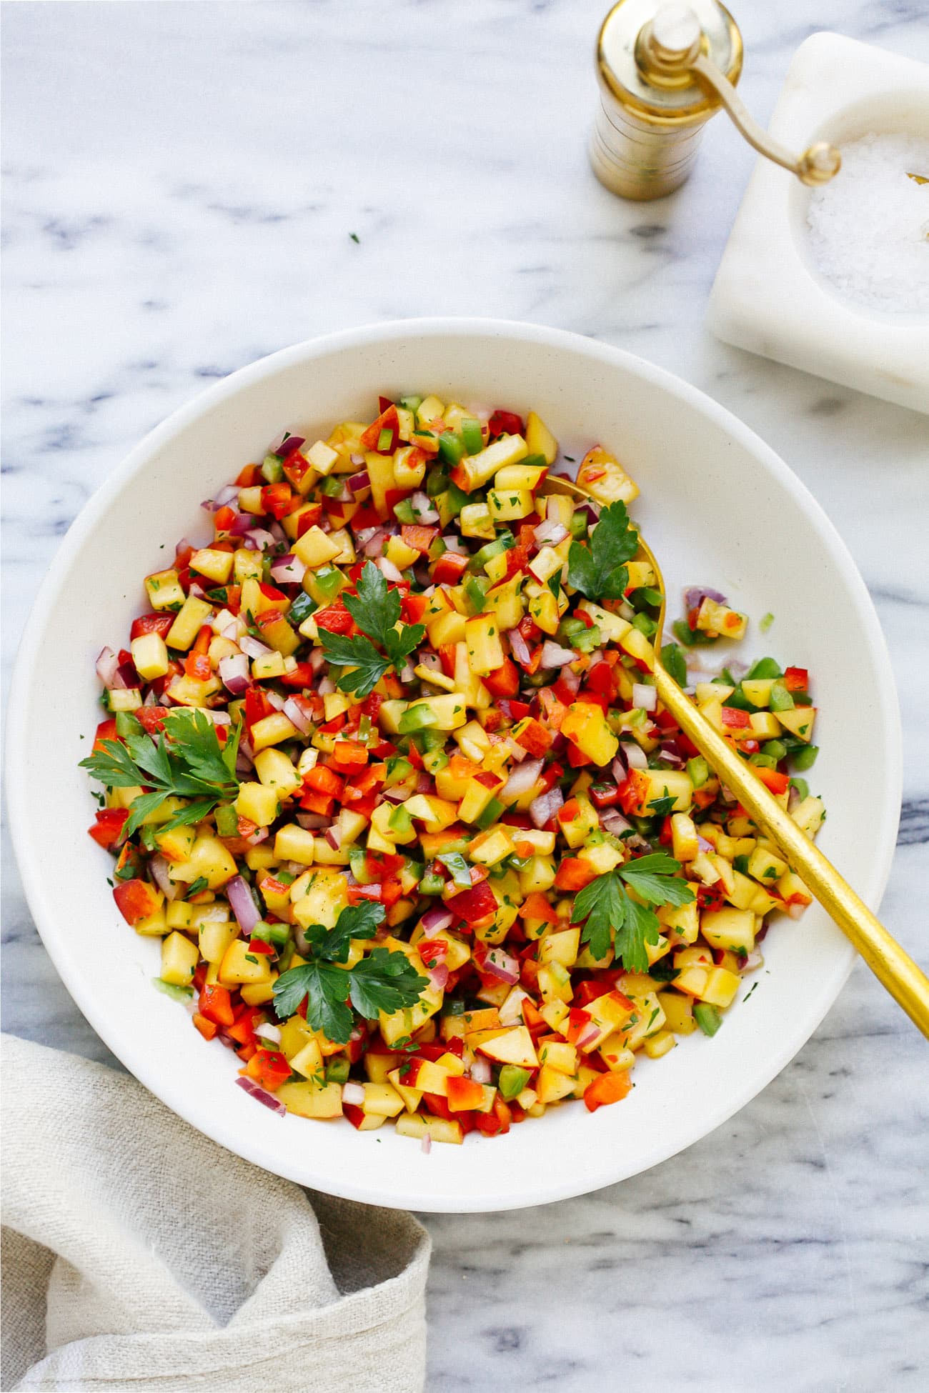
M 865 135 L 841 146 L 841 170 L 806 213 L 819 272 L 848 299 L 929 313 L 929 139 Z

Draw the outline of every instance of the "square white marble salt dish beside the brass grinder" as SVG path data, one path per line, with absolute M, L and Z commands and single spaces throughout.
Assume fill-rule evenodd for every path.
M 929 131 L 929 65 L 813 33 L 794 54 L 772 135 L 790 149 L 820 139 L 841 149 L 869 131 Z M 710 330 L 737 348 L 929 412 L 929 318 L 872 311 L 832 287 L 811 256 L 808 202 L 809 189 L 787 170 L 758 160 L 713 284 Z

